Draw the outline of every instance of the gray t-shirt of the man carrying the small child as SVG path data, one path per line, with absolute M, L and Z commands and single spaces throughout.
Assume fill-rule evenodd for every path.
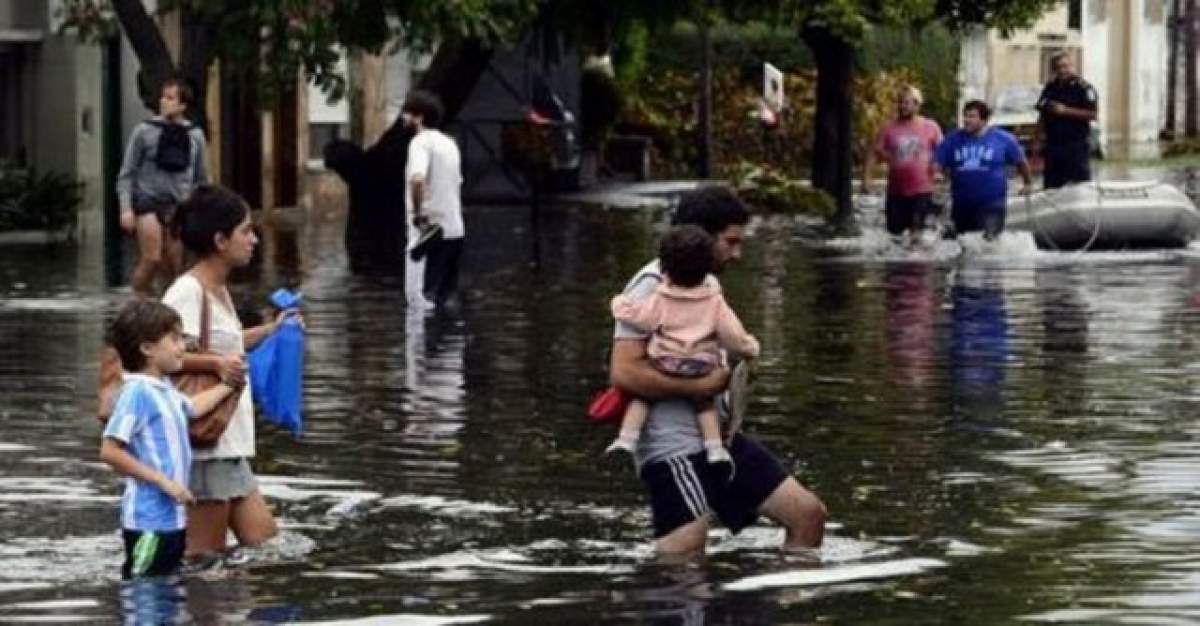
M 649 297 L 662 282 L 662 270 L 658 259 L 648 263 L 634 275 L 623 291 L 634 300 Z M 649 333 L 628 324 L 617 323 L 614 339 L 646 339 Z M 696 408 L 688 399 L 664 399 L 650 405 L 649 417 L 642 428 L 642 438 L 637 443 L 634 459 L 638 469 L 647 463 L 671 457 L 695 455 L 704 450 L 700 426 L 696 423 Z

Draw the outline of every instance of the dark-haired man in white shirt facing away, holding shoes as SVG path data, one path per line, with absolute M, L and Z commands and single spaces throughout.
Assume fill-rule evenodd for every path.
M 412 251 L 421 233 L 440 227 L 440 240 L 427 246 L 418 260 L 406 255 L 404 284 L 409 306 L 432 308 L 445 305 L 458 287 L 458 258 L 462 254 L 463 223 L 462 158 L 458 145 L 442 131 L 442 103 L 428 91 L 414 91 L 400 112 L 413 131 L 404 167 L 404 209 Z

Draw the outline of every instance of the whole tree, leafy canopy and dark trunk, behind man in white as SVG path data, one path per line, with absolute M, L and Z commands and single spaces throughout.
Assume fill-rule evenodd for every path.
M 218 59 L 223 72 L 253 80 L 266 106 L 301 76 L 340 98 L 347 90 L 337 67 L 342 52 L 404 48 L 433 53 L 416 86 L 440 96 L 446 118 L 454 118 L 492 49 L 522 32 L 538 7 L 539 0 L 158 0 L 158 13 L 178 16 L 178 58 L 143 0 L 65 0 L 62 18 L 64 30 L 84 38 L 110 36 L 119 25 L 140 65 L 138 88 L 150 110 L 172 76 L 187 79 L 204 102 L 208 71 Z M 193 108 L 206 127 L 204 113 Z M 410 138 L 397 120 L 365 150 L 348 142 L 326 148 L 326 164 L 349 187 L 346 243 L 355 270 L 394 269 L 400 260 L 404 224 L 397 181 Z

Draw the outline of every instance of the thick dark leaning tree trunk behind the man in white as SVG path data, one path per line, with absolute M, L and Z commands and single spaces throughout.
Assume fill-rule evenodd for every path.
M 438 47 L 418 89 L 442 98 L 443 120 L 458 115 L 475 83 L 487 70 L 492 50 L 478 40 L 445 42 Z M 349 187 L 346 251 L 350 271 L 395 273 L 403 270 L 404 163 L 412 133 L 400 116 L 371 148 L 332 142 L 325 164 Z

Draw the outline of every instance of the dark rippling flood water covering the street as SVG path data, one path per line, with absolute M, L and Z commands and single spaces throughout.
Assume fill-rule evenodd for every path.
M 756 222 L 722 277 L 764 347 L 746 429 L 827 540 L 715 530 L 678 566 L 583 416 L 659 216 L 472 210 L 467 303 L 430 319 L 349 275 L 336 217 L 276 217 L 235 297 L 306 299 L 306 429 L 260 426 L 254 462 L 282 534 L 178 584 L 118 579 L 90 415 L 124 293 L 90 248 L 0 247 L 0 622 L 1200 620 L 1200 251 L 919 258 Z

